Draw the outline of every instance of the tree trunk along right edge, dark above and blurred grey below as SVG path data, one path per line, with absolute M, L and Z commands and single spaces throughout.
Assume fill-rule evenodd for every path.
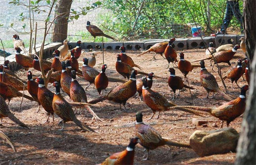
M 256 43 L 256 17 L 255 0 L 243 1 L 243 22 L 245 29 L 245 39 L 247 57 L 249 61 L 250 92 L 247 99 L 246 110 L 243 117 L 240 138 L 237 145 L 237 165 L 256 164 L 256 58 L 254 59 Z M 250 67 L 251 66 L 251 67 Z

